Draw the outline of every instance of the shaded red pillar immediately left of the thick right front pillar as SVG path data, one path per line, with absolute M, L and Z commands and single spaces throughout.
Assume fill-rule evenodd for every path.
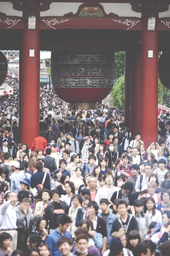
M 130 87 L 130 128 L 133 136 L 141 132 L 141 54 L 140 47 L 131 51 L 131 87 Z

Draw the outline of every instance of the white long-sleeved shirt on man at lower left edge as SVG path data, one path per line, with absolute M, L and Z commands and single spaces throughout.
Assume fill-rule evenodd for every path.
M 4 202 L 0 206 L 0 213 L 1 210 L 3 211 L 3 207 L 9 204 L 5 213 L 3 214 L 1 223 L 0 223 L 0 230 L 9 230 L 9 229 L 17 229 L 17 213 L 15 206 L 12 206 L 9 201 Z

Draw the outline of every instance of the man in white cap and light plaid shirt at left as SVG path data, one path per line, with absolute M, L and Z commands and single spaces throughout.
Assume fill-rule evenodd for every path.
M 20 180 L 23 180 L 26 176 L 23 172 L 19 171 L 20 163 L 18 163 L 18 161 L 13 161 L 9 165 L 11 166 L 11 170 L 14 172 L 10 176 L 11 192 L 15 192 L 17 194 L 20 191 Z

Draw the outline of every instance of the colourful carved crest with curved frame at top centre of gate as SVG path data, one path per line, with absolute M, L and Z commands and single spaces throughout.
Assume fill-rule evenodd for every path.
M 89 6 L 89 7 L 88 7 Z M 95 6 L 91 4 L 91 2 L 83 3 L 79 6 L 79 9 L 76 14 L 73 12 L 69 12 L 65 14 L 66 17 L 119 17 L 114 13 L 107 14 L 103 6 L 99 3 L 96 3 Z

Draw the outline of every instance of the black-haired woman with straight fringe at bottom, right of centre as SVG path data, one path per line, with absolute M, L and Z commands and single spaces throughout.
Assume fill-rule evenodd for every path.
M 135 255 L 136 246 L 141 243 L 141 237 L 137 230 L 132 230 L 127 236 L 126 247 Z

